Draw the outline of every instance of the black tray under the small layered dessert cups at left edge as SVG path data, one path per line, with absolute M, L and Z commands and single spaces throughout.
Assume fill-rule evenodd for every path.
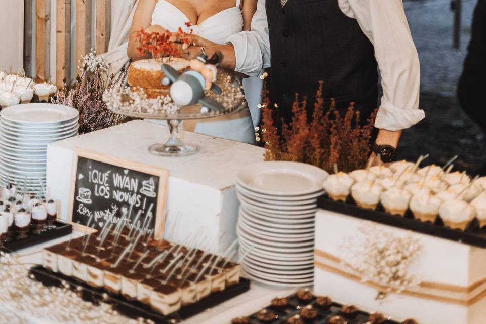
M 72 233 L 71 224 L 56 221 L 54 226 L 55 227 L 53 229 L 46 230 L 41 234 L 34 234 L 33 230 L 31 229 L 27 234 L 28 236 L 25 238 L 17 238 L 15 236 L 12 241 L 4 243 L 4 248 L 0 250 L 4 252 L 15 252 Z

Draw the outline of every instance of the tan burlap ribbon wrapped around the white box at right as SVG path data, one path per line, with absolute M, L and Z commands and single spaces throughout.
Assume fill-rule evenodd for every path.
M 363 282 L 359 274 L 343 266 L 342 261 L 338 257 L 326 252 L 316 250 L 314 264 L 316 268 L 354 280 L 379 292 L 386 291 L 385 286 L 375 282 Z M 486 277 L 473 282 L 467 287 L 423 281 L 417 289 L 404 290 L 401 294 L 441 303 L 470 306 L 486 296 Z

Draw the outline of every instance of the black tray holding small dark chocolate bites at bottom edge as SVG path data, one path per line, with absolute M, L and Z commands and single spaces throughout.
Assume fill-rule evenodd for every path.
M 294 315 L 297 315 L 300 313 L 300 310 L 304 308 L 305 306 L 312 305 L 316 310 L 317 310 L 317 317 L 314 321 L 311 321 L 313 324 L 327 324 L 327 320 L 333 316 L 341 316 L 346 319 L 348 324 L 366 324 L 368 321 L 368 317 L 370 316 L 370 313 L 367 313 L 365 311 L 359 310 L 355 313 L 356 316 L 353 316 L 353 318 L 347 318 L 341 314 L 341 308 L 343 307 L 342 304 L 333 302 L 331 306 L 328 309 L 320 309 L 318 306 L 315 305 L 315 300 L 316 298 L 314 297 L 310 302 L 301 302 L 297 299 L 295 294 L 292 294 L 287 297 L 288 300 L 288 305 L 281 309 L 281 308 L 275 308 L 273 306 L 267 306 L 266 310 L 272 311 L 275 314 L 278 315 L 278 318 L 271 321 L 271 322 L 263 322 L 257 318 L 257 313 L 256 312 L 248 317 L 250 320 L 250 324 L 285 324 L 286 320 Z M 398 322 L 388 319 L 383 322 L 383 324 L 399 324 Z

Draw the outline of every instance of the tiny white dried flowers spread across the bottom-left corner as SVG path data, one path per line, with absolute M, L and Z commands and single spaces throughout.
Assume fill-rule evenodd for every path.
M 67 288 L 46 287 L 29 277 L 28 269 L 0 252 L 0 323 L 153 323 L 120 315 L 106 303 L 94 305 Z

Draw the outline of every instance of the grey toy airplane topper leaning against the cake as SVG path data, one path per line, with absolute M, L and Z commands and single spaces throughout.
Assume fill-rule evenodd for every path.
M 205 95 L 205 90 L 211 90 L 221 94 L 214 81 L 216 80 L 217 69 L 214 65 L 206 64 L 206 57 L 201 55 L 191 61 L 192 70 L 180 74 L 168 64 L 162 65 L 165 77 L 162 79 L 164 86 L 171 85 L 170 94 L 172 100 L 180 106 L 189 106 L 200 103 L 210 110 L 223 111 L 224 106 L 218 101 Z M 203 76 L 204 75 L 204 76 Z

